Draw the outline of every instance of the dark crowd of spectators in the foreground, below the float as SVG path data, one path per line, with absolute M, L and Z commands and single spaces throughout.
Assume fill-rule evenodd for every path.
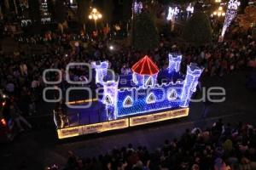
M 65 170 L 252 170 L 256 169 L 256 128 L 221 119 L 212 127 L 186 129 L 180 139 L 166 139 L 154 151 L 145 146 L 113 148 L 96 157 L 68 151 Z M 52 169 L 58 169 L 57 167 Z

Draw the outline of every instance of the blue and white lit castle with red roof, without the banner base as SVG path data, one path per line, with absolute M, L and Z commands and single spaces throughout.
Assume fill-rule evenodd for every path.
M 180 75 L 181 60 L 182 55 L 169 54 L 169 66 L 167 70 L 162 70 L 166 77 Z M 102 70 L 102 65 L 98 63 L 96 70 Z M 182 80 L 160 84 L 157 80 L 160 70 L 148 56 L 140 59 L 131 70 L 132 78 L 127 82 L 134 82 L 134 85 L 127 88 L 119 88 L 119 77 L 109 78 L 108 72 L 103 78 L 102 71 L 96 75 L 103 86 L 102 103 L 106 107 L 108 120 L 189 107 L 190 98 L 202 73 L 200 67 L 191 64 L 188 65 L 186 77 L 182 77 Z

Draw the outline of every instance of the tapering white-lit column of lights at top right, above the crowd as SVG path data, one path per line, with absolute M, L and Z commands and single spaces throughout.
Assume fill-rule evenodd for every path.
M 221 37 L 224 37 L 225 31 L 230 26 L 231 21 L 234 20 L 234 18 L 236 17 L 237 9 L 239 6 L 240 2 L 237 0 L 230 0 L 230 2 L 228 3 L 228 9 L 224 20 L 224 26 L 221 31 Z

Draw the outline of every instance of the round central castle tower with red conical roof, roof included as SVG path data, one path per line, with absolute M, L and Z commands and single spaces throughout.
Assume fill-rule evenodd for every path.
M 145 55 L 132 66 L 132 81 L 140 87 L 154 86 L 157 82 L 159 68 L 152 59 Z

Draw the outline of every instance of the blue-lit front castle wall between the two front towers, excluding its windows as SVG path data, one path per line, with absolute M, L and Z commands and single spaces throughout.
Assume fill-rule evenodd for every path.
M 177 109 L 182 104 L 182 101 L 177 97 L 177 99 L 169 100 L 166 94 L 168 94 L 171 89 L 177 91 L 177 96 L 182 94 L 183 82 L 169 83 L 163 85 L 156 85 L 152 88 L 126 88 L 119 90 L 118 102 L 117 102 L 117 116 L 131 116 L 141 113 L 146 113 L 150 111 L 160 111 L 166 109 Z M 154 94 L 154 103 L 148 104 L 148 94 Z M 123 101 L 126 96 L 131 96 L 133 99 L 133 104 L 131 107 L 124 107 Z

